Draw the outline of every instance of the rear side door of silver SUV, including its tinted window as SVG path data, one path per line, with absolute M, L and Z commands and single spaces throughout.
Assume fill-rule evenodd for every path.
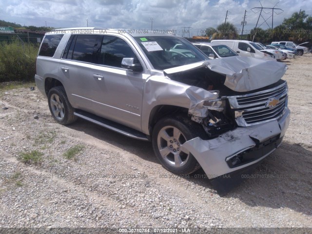
M 101 35 L 72 35 L 65 47 L 59 64 L 65 91 L 74 108 L 94 113 L 93 67 Z

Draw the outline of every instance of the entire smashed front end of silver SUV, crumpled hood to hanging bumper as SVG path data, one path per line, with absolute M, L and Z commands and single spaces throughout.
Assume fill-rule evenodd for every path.
M 190 99 L 189 116 L 203 126 L 208 138 L 188 140 L 182 149 L 196 158 L 210 179 L 270 155 L 289 126 L 288 88 L 280 79 L 287 66 L 277 62 L 272 66 L 272 61 L 260 59 L 250 64 L 248 59 L 239 58 L 238 65 L 237 59 L 218 59 L 191 69 L 184 66 L 165 71 L 170 79 L 190 85 L 198 82 L 187 80 L 192 72 L 205 74 L 205 82 L 189 87 L 185 93 Z

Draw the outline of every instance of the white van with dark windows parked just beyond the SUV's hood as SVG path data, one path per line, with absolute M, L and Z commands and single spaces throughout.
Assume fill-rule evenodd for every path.
M 275 55 L 268 51 L 260 51 L 262 48 L 248 40 L 212 40 L 212 43 L 227 45 L 240 56 L 253 57 L 276 61 Z

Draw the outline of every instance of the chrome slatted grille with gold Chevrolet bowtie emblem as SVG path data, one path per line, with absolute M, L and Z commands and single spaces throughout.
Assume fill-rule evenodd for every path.
M 274 119 L 285 113 L 288 102 L 286 81 L 272 89 L 254 94 L 227 97 L 238 126 L 251 126 Z

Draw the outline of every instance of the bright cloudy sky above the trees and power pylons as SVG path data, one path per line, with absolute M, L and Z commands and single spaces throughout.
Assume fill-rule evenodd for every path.
M 273 27 L 293 12 L 305 10 L 312 16 L 312 0 L 261 0 L 263 7 L 273 7 Z M 241 29 L 247 10 L 247 25 L 252 29 L 259 17 L 258 0 L 0 0 L 0 20 L 21 25 L 51 26 L 56 28 L 86 27 L 176 30 L 182 35 L 183 27 L 190 28 L 190 36 L 201 35 L 207 27 L 227 21 Z M 262 16 L 268 19 L 272 10 L 265 9 Z M 269 28 L 260 17 L 258 25 Z M 87 21 L 88 20 L 88 21 Z M 272 18 L 268 24 L 272 25 Z M 186 29 L 187 30 L 187 29 Z

